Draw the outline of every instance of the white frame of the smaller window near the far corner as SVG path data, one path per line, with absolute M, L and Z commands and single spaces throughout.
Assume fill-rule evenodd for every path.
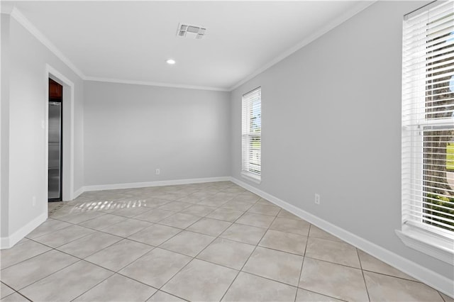
M 250 120 L 252 116 L 252 104 L 253 101 L 250 101 L 249 96 L 251 94 L 259 95 L 260 101 L 260 132 L 251 132 L 250 131 Z M 245 104 L 247 102 L 247 104 Z M 260 184 L 262 181 L 262 87 L 258 86 L 257 88 L 243 94 L 241 96 L 241 177 L 253 181 L 257 184 Z M 260 171 L 253 172 L 250 169 L 251 162 L 248 161 L 248 158 L 245 155 L 250 154 L 250 139 L 253 137 L 260 138 Z

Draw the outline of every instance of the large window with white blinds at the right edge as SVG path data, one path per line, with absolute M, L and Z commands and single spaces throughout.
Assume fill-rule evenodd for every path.
M 454 6 L 429 4 L 404 20 L 402 232 L 406 245 L 454 255 Z

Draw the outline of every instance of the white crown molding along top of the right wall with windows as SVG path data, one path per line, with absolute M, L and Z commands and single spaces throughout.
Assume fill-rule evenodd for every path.
M 352 9 L 349 9 L 348 11 L 345 11 L 341 16 L 338 16 L 338 18 L 333 19 L 330 23 L 327 23 L 323 28 L 320 28 L 320 30 L 317 30 L 315 33 L 310 35 L 308 38 L 302 40 L 300 43 L 297 45 L 294 45 L 291 47 L 289 50 L 286 50 L 285 52 L 282 52 L 282 54 L 278 55 L 275 57 L 273 60 L 270 62 L 267 62 L 267 64 L 263 65 L 259 69 L 255 70 L 252 74 L 248 75 L 248 77 L 245 77 L 242 79 L 240 82 L 237 84 L 231 86 L 228 91 L 233 91 L 237 89 L 239 86 L 245 84 L 245 82 L 248 82 L 250 79 L 253 79 L 254 77 L 257 77 L 258 74 L 261 74 L 264 72 L 266 69 L 272 67 L 273 65 L 276 65 L 278 62 L 284 60 L 286 57 L 289 55 L 292 55 L 294 52 L 297 52 L 300 50 L 302 47 L 308 45 L 309 43 L 313 42 L 314 40 L 320 38 L 322 35 L 325 33 L 328 33 L 328 31 L 332 30 L 333 28 L 336 28 L 337 26 L 340 26 L 342 23 L 347 21 L 348 19 L 352 18 L 355 16 L 357 13 L 360 13 L 361 11 L 367 9 L 367 7 L 371 6 L 378 0 L 362 0 L 358 1 L 358 4 L 356 4 Z

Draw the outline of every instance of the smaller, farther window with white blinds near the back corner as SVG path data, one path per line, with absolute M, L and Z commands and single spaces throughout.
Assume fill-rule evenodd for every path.
M 260 87 L 243 95 L 241 174 L 253 181 L 260 181 L 262 172 L 262 101 Z

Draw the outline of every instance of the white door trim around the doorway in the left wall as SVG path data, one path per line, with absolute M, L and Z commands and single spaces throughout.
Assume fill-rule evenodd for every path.
M 45 95 L 45 143 L 46 143 L 46 150 L 45 150 L 45 179 L 48 178 L 48 102 L 49 102 L 49 77 L 53 77 L 54 79 L 57 80 L 57 82 L 60 82 L 63 86 L 63 106 L 67 107 L 68 104 L 70 106 L 70 116 L 66 116 L 64 113 L 67 112 L 65 108 L 62 111 L 62 117 L 63 117 L 63 136 L 69 135 L 70 136 L 70 146 L 69 148 L 66 145 L 63 145 L 63 160 L 67 158 L 69 155 L 70 157 L 70 168 L 68 169 L 67 167 L 63 167 L 63 173 L 62 173 L 62 199 L 63 200 L 72 200 L 74 199 L 74 83 L 70 81 L 67 77 L 65 77 L 63 74 L 57 71 L 57 69 L 53 68 L 52 66 L 46 64 L 45 65 L 45 83 L 46 83 L 46 95 Z M 65 91 L 67 89 L 70 90 L 70 96 L 67 97 L 65 95 Z M 65 127 L 65 124 L 67 125 L 67 120 L 69 118 L 69 133 L 67 133 L 67 128 Z M 65 139 L 62 142 L 65 144 Z M 69 150 L 68 150 L 69 149 Z M 67 181 L 69 181 L 69 184 L 67 184 Z

